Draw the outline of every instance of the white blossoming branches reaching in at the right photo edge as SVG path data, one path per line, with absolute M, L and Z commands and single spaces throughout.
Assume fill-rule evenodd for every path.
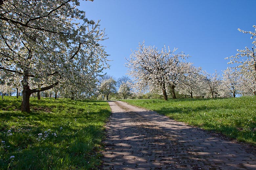
M 251 34 L 252 47 L 245 47 L 244 50 L 237 50 L 238 53 L 235 56 L 231 56 L 225 59 L 230 59 L 229 64 L 234 64 L 233 68 L 237 69 L 245 78 L 253 79 L 256 81 L 256 25 L 253 25 L 255 31 L 244 31 L 238 29 L 240 32 L 245 34 Z

